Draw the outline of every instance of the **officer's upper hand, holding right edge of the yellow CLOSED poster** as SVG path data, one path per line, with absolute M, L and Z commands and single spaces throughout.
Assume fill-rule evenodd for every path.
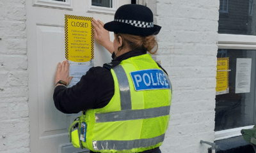
M 110 41 L 109 31 L 103 27 L 104 23 L 93 18 L 92 25 L 95 40 L 112 54 L 114 51 L 113 43 Z

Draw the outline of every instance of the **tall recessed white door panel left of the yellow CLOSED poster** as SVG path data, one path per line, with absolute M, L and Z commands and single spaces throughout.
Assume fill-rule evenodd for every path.
M 56 66 L 52 66 L 52 63 L 65 60 L 65 55 L 61 52 L 65 41 L 63 33 L 64 27 L 36 25 L 40 138 L 67 133 L 67 115 L 56 110 L 52 97 L 48 96 L 54 91 L 52 74 L 55 73 Z

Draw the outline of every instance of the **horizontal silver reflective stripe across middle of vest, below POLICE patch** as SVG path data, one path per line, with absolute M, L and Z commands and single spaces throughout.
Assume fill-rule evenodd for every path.
M 96 122 L 115 122 L 121 120 L 150 119 L 169 115 L 170 106 L 148 108 L 143 110 L 122 110 L 109 113 L 95 113 Z

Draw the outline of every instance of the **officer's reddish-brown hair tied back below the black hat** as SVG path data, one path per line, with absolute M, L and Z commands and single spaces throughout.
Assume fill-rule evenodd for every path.
M 147 50 L 150 54 L 156 54 L 158 44 L 154 35 L 150 36 L 137 36 L 133 34 L 115 33 L 115 37 L 119 40 L 118 36 L 121 36 L 123 44 L 118 50 L 122 50 L 124 47 L 129 47 L 132 50 Z M 156 47 L 156 50 L 152 49 Z

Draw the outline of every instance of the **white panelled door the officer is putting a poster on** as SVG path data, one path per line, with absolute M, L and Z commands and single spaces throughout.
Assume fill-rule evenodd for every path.
M 77 115 L 59 112 L 52 100 L 56 66 L 65 60 L 65 14 L 106 23 L 123 4 L 131 4 L 131 0 L 26 0 L 32 153 L 87 152 L 75 149 L 68 140 L 68 127 Z M 109 52 L 96 42 L 94 49 L 95 66 L 111 61 Z

